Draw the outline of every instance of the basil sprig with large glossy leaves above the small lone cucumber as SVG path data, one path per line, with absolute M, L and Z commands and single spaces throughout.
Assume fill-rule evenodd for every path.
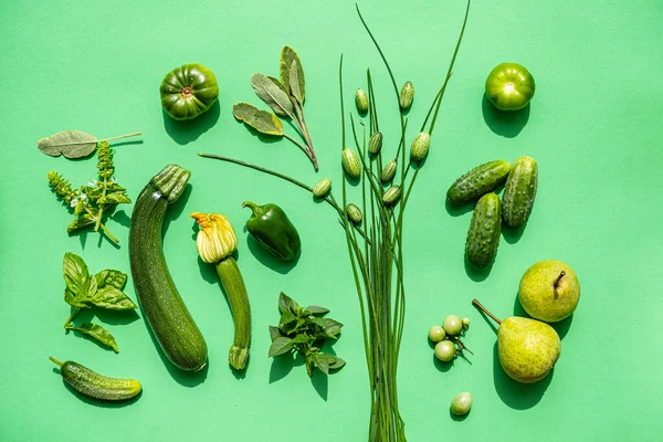
M 87 335 L 118 352 L 115 338 L 104 327 L 92 323 L 75 326 L 73 319 L 82 308 L 99 307 L 112 311 L 136 308 L 136 304 L 122 292 L 127 283 L 127 275 L 117 270 L 103 270 L 91 276 L 83 259 L 71 252 L 64 254 L 62 270 L 66 284 L 64 301 L 74 307 L 64 323 L 64 328 Z

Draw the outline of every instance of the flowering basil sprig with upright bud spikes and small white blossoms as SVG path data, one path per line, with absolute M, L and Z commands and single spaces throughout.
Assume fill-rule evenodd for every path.
M 129 203 L 131 200 L 126 196 L 126 189 L 117 183 L 113 173 L 113 149 L 107 141 L 99 143 L 98 156 L 98 180 L 93 180 L 81 189 L 74 190 L 62 175 L 50 171 L 49 185 L 55 194 L 73 210 L 76 219 L 66 228 L 67 233 L 73 233 L 88 225 L 94 225 L 94 231 L 102 229 L 115 243 L 119 240 L 113 235 L 103 222 L 104 213 L 112 212 L 117 204 Z

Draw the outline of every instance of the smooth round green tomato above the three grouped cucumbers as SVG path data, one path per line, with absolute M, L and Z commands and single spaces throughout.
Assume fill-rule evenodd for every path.
M 486 96 L 501 110 L 518 110 L 534 96 L 534 77 L 517 63 L 495 66 L 486 78 Z

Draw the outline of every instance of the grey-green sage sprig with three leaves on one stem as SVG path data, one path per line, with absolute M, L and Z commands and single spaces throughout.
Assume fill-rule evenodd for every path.
M 317 157 L 311 140 L 311 134 L 304 117 L 305 80 L 299 55 L 290 46 L 281 51 L 280 64 L 281 80 L 264 74 L 253 74 L 251 86 L 274 114 L 261 110 L 250 103 L 240 102 L 233 105 L 234 117 L 253 127 L 261 134 L 284 137 L 296 145 L 318 169 Z M 296 126 L 304 144 L 283 131 L 283 124 L 278 119 L 290 118 Z

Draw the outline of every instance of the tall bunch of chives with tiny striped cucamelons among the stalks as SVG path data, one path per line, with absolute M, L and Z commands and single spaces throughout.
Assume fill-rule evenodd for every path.
M 372 78 L 370 70 L 367 70 L 369 134 L 366 133 L 365 123 L 360 122 L 361 133 L 358 135 L 355 118 L 350 113 L 352 138 L 355 148 L 359 154 L 357 155 L 346 147 L 341 55 L 338 71 L 341 116 L 340 148 L 344 173 L 340 204 L 334 197 L 328 178 L 320 180 L 317 186 L 311 187 L 294 178 L 260 166 L 218 155 L 199 154 L 201 157 L 233 162 L 290 181 L 312 192 L 314 197 L 324 199 L 337 211 L 339 222 L 345 230 L 352 277 L 359 298 L 371 393 L 370 441 L 400 442 L 407 440 L 397 392 L 399 349 L 406 317 L 403 214 L 414 182 L 429 154 L 440 105 L 463 40 L 470 4 L 471 0 L 467 0 L 463 24 L 449 70 L 421 125 L 420 133 L 413 138 L 409 157 L 406 156 L 404 148 L 408 139 L 408 122 L 404 115 L 407 109 L 402 109 L 400 106 L 400 91 L 391 67 L 357 7 L 359 19 L 380 53 L 391 78 L 396 93 L 394 105 L 400 109 L 401 136 L 396 148 L 396 156 L 383 165 L 382 134 L 379 131 Z M 360 210 L 362 217 L 352 215 L 357 212 L 359 206 L 348 201 L 348 180 L 360 181 Z M 352 210 L 346 210 L 345 208 L 348 208 L 348 206 L 351 206 Z M 364 229 L 361 229 L 360 222 L 357 222 L 358 219 L 362 220 Z

